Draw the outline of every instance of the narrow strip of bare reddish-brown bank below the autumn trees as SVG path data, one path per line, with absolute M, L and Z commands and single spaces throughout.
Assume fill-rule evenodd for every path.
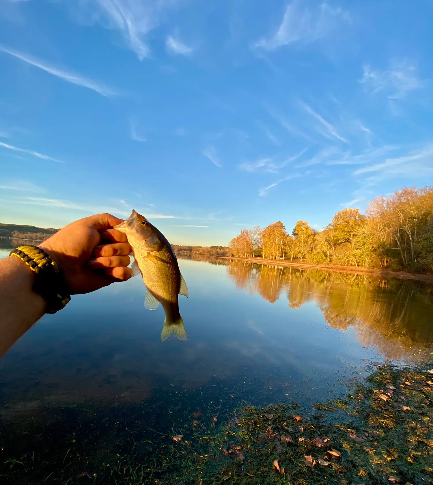
M 391 271 L 391 270 L 382 270 L 376 268 L 363 268 L 363 267 L 356 267 L 356 266 L 338 266 L 335 264 L 314 264 L 314 263 L 304 263 L 304 262 L 297 262 L 297 261 L 290 261 L 288 259 L 284 260 L 275 260 L 275 259 L 262 259 L 262 258 L 236 258 L 234 256 L 219 256 L 214 254 L 206 254 L 204 256 L 213 256 L 214 258 L 222 258 L 222 259 L 233 259 L 235 261 L 246 261 L 249 263 L 256 263 L 256 264 L 269 264 L 273 266 L 289 266 L 299 269 L 320 269 L 320 270 L 328 270 L 328 271 L 335 271 L 337 273 L 352 273 L 352 274 L 363 274 L 363 275 L 372 275 L 372 276 L 383 276 L 385 278 L 397 278 L 397 279 L 408 279 L 414 281 L 425 281 L 428 283 L 433 283 L 433 275 L 421 275 L 417 273 L 407 273 L 405 271 Z

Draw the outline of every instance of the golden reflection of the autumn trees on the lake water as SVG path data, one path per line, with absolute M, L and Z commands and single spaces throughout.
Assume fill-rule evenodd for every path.
M 293 309 L 314 302 L 329 325 L 344 331 L 352 327 L 362 345 L 376 348 L 388 359 L 411 361 L 430 354 L 432 285 L 222 258 L 206 260 L 225 264 L 237 290 L 257 293 L 270 303 L 282 296 Z

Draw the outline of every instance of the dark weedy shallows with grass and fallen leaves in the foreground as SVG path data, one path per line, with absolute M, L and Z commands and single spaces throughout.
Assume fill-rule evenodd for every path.
M 432 379 L 432 380 L 430 380 Z M 73 407 L 47 425 L 2 428 L 5 484 L 430 484 L 433 375 L 380 367 L 347 399 L 192 414 L 140 405 L 100 419 Z M 52 412 L 52 411 L 51 411 Z M 225 419 L 222 419 L 223 416 Z M 167 422 L 166 428 L 157 422 Z M 67 425 L 66 425 L 66 424 Z M 179 441 L 173 436 L 182 436 Z

